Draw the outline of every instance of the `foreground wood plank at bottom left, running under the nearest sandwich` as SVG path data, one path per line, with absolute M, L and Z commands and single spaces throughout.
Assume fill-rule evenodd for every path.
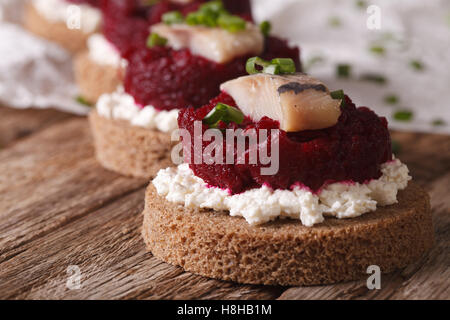
M 25 244 L 1 264 L 1 298 L 195 299 L 275 298 L 281 289 L 234 285 L 183 272 L 145 251 L 144 189 Z M 20 263 L 21 267 L 15 265 Z M 82 272 L 80 290 L 66 287 L 69 265 Z

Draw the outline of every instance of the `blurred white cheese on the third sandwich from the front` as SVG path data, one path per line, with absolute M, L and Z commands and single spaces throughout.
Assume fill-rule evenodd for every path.
M 87 40 L 89 58 L 97 64 L 113 67 L 127 67 L 127 60 L 120 56 L 116 47 L 102 34 L 95 33 Z

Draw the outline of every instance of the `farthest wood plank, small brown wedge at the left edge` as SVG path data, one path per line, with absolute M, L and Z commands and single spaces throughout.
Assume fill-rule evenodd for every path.
M 0 106 L 0 148 L 75 116 L 53 109 L 13 109 Z

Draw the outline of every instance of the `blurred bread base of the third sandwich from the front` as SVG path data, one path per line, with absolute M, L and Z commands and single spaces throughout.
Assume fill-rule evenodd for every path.
M 94 104 L 103 93 L 111 93 L 122 83 L 120 67 L 101 65 L 92 61 L 84 51 L 75 56 L 74 74 L 80 95 Z

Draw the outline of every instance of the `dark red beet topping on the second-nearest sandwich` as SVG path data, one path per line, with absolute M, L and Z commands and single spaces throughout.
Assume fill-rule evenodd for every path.
M 269 37 L 263 59 L 292 58 L 301 70 L 300 51 L 287 42 Z M 142 106 L 157 109 L 198 107 L 220 93 L 220 84 L 246 75 L 245 63 L 249 56 L 218 64 L 189 50 L 167 47 L 141 47 L 126 55 L 125 90 Z

